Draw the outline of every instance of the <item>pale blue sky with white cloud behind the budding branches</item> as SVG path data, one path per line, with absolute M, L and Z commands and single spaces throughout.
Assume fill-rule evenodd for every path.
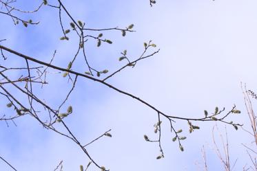
M 53 0 L 49 2 L 54 3 Z M 41 1 L 17 1 L 16 5 L 31 10 L 39 3 Z M 96 47 L 96 41 L 88 40 L 89 61 L 99 70 L 112 72 L 123 66 L 124 62 L 118 59 L 124 49 L 128 56 L 136 59 L 144 50 L 144 42 L 151 40 L 157 45 L 152 52 L 160 48 L 158 54 L 139 61 L 133 69 L 124 69 L 107 80 L 108 83 L 140 97 L 168 115 L 179 117 L 203 117 L 204 110 L 212 112 L 218 106 L 229 111 L 236 104 L 236 109 L 242 113 L 229 119 L 250 130 L 240 82 L 256 91 L 256 1 L 158 0 L 152 8 L 147 0 L 74 0 L 63 1 L 63 4 L 74 18 L 90 28 L 134 24 L 136 32 L 127 33 L 125 37 L 119 31 L 103 32 L 105 38 L 113 41 L 112 45 Z M 10 17 L 1 15 L 0 39 L 7 39 L 1 45 L 45 62 L 50 61 L 56 50 L 53 64 L 67 67 L 77 49 L 76 35 L 70 33 L 70 41 L 59 40 L 63 35 L 58 11 L 43 6 L 39 12 L 23 17 L 40 23 L 14 26 Z M 63 16 L 63 20 L 66 21 L 64 27 L 69 28 L 67 16 Z M 23 60 L 10 54 L 8 60 L 0 61 L 3 66 L 24 66 Z M 82 56 L 74 64 L 74 71 L 86 71 L 81 61 Z M 34 92 L 56 106 L 65 98 L 71 84 L 62 73 L 50 71 L 49 84 L 43 89 L 35 88 Z M 10 73 L 10 77 L 19 78 L 21 74 Z M 26 100 L 12 87 L 8 88 L 21 100 Z M 0 115 L 14 112 L 6 109 L 6 103 L 1 97 L 3 111 Z M 223 135 L 227 130 L 231 161 L 236 161 L 234 170 L 243 170 L 246 163 L 250 164 L 242 144 L 250 145 L 252 139 L 240 128 L 236 131 L 229 125 L 194 122 L 201 129 L 189 134 L 187 122 L 178 121 L 176 129 L 183 128 L 183 135 L 187 137 L 183 141 L 185 151 L 181 152 L 178 144 L 172 142 L 174 135 L 169 132 L 169 123 L 161 118 L 165 157 L 156 160 L 160 153 L 158 144 L 146 142 L 143 135 L 157 138 L 153 125 L 158 117 L 144 104 L 102 84 L 79 78 L 65 107 L 69 105 L 73 106 L 73 113 L 65 118 L 65 123 L 85 144 L 112 129 L 112 138 L 99 139 L 88 146 L 88 151 L 97 163 L 113 171 L 203 170 L 203 146 L 209 170 L 223 170 L 212 141 L 212 129 L 216 124 Z M 87 166 L 89 160 L 76 144 L 45 130 L 32 117 L 21 117 L 15 123 L 17 126 L 9 123 L 8 127 L 0 122 L 0 154 L 17 170 L 54 170 L 61 160 L 63 170 Z M 220 146 L 218 131 L 214 136 Z M 11 169 L 0 161 L 0 170 Z M 94 166 L 89 170 L 95 170 Z

